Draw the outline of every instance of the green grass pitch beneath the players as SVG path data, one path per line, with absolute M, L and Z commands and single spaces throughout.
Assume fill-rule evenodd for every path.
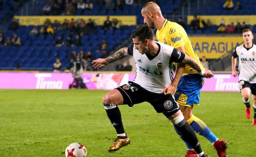
M 0 90 L 1 157 L 64 157 L 73 142 L 85 145 L 87 157 L 183 157 L 185 144 L 150 104 L 120 106 L 131 144 L 117 152 L 107 148 L 116 137 L 102 104 L 107 91 Z M 246 119 L 238 92 L 201 92 L 194 115 L 229 142 L 229 157 L 255 157 L 256 127 Z M 199 137 L 203 150 L 217 157 Z

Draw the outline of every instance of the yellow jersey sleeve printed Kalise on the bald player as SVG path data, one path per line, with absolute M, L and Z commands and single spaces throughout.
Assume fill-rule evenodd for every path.
M 171 46 L 175 48 L 185 46 L 183 35 L 176 29 L 171 28 L 168 32 L 166 32 L 166 36 Z

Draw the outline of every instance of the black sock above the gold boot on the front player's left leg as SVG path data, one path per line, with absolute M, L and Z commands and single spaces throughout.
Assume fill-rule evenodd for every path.
M 104 106 L 106 105 L 110 105 L 110 104 L 104 104 Z M 110 119 L 111 124 L 116 129 L 117 134 L 125 133 L 123 128 L 122 118 L 121 118 L 121 112 L 119 108 L 116 106 L 114 108 L 107 109 L 106 112 L 107 112 L 107 117 Z

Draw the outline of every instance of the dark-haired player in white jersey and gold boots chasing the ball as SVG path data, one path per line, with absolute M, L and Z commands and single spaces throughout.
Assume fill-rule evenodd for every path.
M 133 55 L 136 62 L 134 81 L 113 89 L 103 97 L 107 116 L 117 131 L 117 139 L 108 151 L 116 151 L 130 144 L 130 138 L 124 131 L 121 113 L 117 106 L 128 104 L 132 107 L 134 104 L 149 102 L 157 113 L 163 113 L 182 132 L 182 138 L 191 144 L 198 157 L 208 157 L 201 150 L 194 130 L 185 121 L 174 95 L 169 94 L 175 90 L 172 85 L 174 79 L 171 71 L 172 62 L 189 64 L 199 72 L 202 70 L 199 64 L 185 53 L 172 46 L 155 42 L 153 35 L 153 30 L 146 24 L 139 25 L 131 34 L 133 44 L 128 48 L 122 48 L 105 59 L 99 58 L 92 62 L 94 68 L 100 68 L 128 55 Z M 178 64 L 177 69 L 179 68 L 181 66 Z M 179 80 L 181 74 L 182 72 L 176 73 L 175 79 Z M 208 77 L 212 76 L 209 71 Z

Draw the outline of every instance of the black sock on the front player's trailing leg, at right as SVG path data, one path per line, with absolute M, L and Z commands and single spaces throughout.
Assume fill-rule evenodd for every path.
M 185 119 L 183 119 L 181 122 L 174 126 L 176 127 L 177 130 L 181 132 L 181 138 L 185 142 L 187 142 L 197 152 L 197 154 L 202 153 L 202 149 L 197 139 L 197 135 L 195 134 L 192 127 L 189 124 L 187 124 Z

